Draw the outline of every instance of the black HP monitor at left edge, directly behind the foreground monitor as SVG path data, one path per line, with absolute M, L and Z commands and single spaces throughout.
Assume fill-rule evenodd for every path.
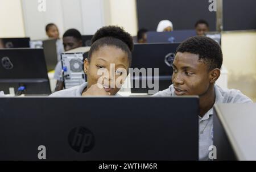
M 24 94 L 51 94 L 43 49 L 0 49 L 0 90 L 9 94 L 9 89 Z

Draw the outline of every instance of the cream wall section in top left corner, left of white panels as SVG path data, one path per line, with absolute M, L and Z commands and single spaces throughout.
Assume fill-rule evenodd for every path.
M 0 37 L 24 37 L 20 0 L 0 0 Z

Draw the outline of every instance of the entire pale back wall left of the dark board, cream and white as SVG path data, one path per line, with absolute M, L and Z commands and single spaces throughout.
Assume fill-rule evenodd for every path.
M 135 0 L 46 0 L 46 12 L 39 12 L 38 6 L 38 0 L 1 0 L 0 37 L 44 39 L 48 23 L 57 24 L 60 35 L 69 28 L 91 35 L 108 25 L 124 27 L 133 36 L 137 33 Z

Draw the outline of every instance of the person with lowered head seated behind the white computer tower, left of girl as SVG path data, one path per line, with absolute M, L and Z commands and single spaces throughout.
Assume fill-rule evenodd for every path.
M 76 29 L 67 30 L 63 35 L 63 46 L 65 51 L 82 47 L 82 35 Z M 57 80 L 55 91 L 63 89 L 61 61 L 55 67 L 54 79 Z

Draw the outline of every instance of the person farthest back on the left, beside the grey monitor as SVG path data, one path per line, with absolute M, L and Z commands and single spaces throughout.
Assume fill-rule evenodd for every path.
M 56 24 L 49 23 L 46 25 L 46 35 L 51 39 L 56 39 L 56 49 L 57 49 L 57 60 L 60 61 L 61 53 L 64 52 L 63 43 L 60 39 L 59 29 Z

